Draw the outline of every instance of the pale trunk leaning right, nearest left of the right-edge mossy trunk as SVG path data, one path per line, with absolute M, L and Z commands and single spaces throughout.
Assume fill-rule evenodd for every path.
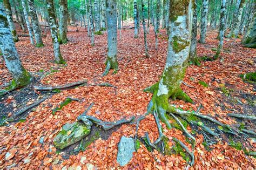
M 241 0 L 238 8 L 237 16 L 234 18 L 233 27 L 228 35 L 229 37 L 237 38 L 238 36 L 239 26 L 240 26 L 241 17 L 242 17 L 242 9 L 244 9 L 244 4 L 245 4 L 245 0 Z

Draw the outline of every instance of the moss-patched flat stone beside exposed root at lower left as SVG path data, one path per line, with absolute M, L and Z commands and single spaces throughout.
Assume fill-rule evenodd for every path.
M 53 139 L 53 144 L 56 148 L 63 149 L 80 141 L 86 137 L 90 131 L 91 127 L 83 123 L 67 123 L 62 127 L 62 131 Z

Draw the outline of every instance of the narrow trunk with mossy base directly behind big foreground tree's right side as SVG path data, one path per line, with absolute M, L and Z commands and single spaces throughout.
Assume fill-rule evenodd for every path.
M 190 45 L 190 62 L 194 65 L 200 65 L 197 56 L 197 1 L 194 3 L 193 21 L 192 21 L 192 33 L 191 33 L 191 45 Z

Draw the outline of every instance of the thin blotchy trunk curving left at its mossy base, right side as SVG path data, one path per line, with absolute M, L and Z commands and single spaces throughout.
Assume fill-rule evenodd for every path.
M 220 33 L 220 42 L 217 49 L 217 52 L 214 56 L 214 59 L 219 58 L 220 51 L 223 47 L 224 42 L 224 32 L 225 32 L 225 16 L 226 16 L 226 0 L 221 0 L 221 8 L 220 8 L 220 26 L 219 26 L 219 33 Z

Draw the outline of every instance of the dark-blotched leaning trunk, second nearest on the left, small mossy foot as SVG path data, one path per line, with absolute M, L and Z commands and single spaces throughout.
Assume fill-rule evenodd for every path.
M 66 64 L 60 53 L 53 0 L 47 0 L 46 2 L 47 2 L 47 10 L 48 10 L 48 16 L 49 16 L 49 25 L 51 28 L 51 37 L 52 37 L 55 62 L 57 64 Z

